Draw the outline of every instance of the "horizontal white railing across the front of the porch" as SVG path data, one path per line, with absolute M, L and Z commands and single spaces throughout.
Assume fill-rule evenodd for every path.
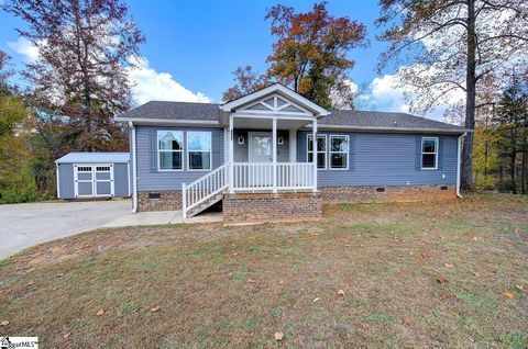
M 276 187 L 274 185 L 276 173 Z M 233 191 L 314 189 L 311 162 L 233 162 Z

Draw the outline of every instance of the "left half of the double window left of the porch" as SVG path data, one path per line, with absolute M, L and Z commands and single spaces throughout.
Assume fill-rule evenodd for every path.
M 157 132 L 157 168 L 161 171 L 177 171 L 184 168 L 184 133 L 182 131 Z

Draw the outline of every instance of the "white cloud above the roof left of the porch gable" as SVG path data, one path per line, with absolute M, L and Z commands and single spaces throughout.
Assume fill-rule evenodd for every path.
M 136 67 L 128 68 L 132 97 L 140 104 L 148 101 L 210 102 L 202 92 L 193 92 L 174 80 L 168 72 L 158 72 L 150 67 L 146 58 L 134 60 Z

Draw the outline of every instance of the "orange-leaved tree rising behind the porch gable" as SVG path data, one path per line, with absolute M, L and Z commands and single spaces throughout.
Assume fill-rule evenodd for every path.
M 271 20 L 271 33 L 277 37 L 273 54 L 266 60 L 267 71 L 246 80 L 251 69 L 237 69 L 239 83 L 224 93 L 224 99 L 237 97 L 233 92 L 248 93 L 263 82 L 276 80 L 326 108 L 332 106 L 332 94 L 339 95 L 341 102 L 352 102 L 354 91 L 348 83 L 348 72 L 354 60 L 348 54 L 366 45 L 363 24 L 348 18 L 334 18 L 328 12 L 326 1 L 314 4 L 306 13 L 296 13 L 294 8 L 278 4 L 270 9 L 265 20 Z M 241 71 L 245 75 L 241 76 Z

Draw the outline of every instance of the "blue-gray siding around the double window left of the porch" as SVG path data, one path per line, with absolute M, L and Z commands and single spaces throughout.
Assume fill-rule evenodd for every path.
M 155 150 L 157 130 L 184 131 L 184 170 L 158 171 Z M 208 171 L 187 170 L 187 133 L 185 131 L 210 131 L 212 140 L 212 169 L 223 165 L 223 128 L 221 127 L 156 127 L 135 126 L 138 151 L 138 191 L 180 190 L 183 183 L 189 183 Z M 154 146 L 153 146 L 154 145 Z M 154 149 L 153 151 L 151 149 Z

